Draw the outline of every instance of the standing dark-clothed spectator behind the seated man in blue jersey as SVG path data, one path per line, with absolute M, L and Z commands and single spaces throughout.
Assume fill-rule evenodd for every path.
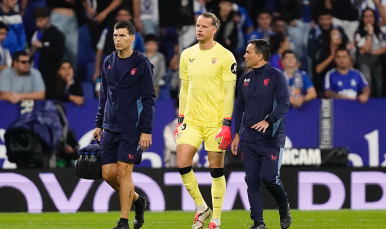
M 338 45 L 345 46 L 347 41 L 342 27 L 332 24 L 331 11 L 321 10 L 318 25 L 310 30 L 308 36 L 308 55 L 312 61 L 313 81 L 320 96 L 323 93 L 324 76 L 334 67 L 334 51 Z

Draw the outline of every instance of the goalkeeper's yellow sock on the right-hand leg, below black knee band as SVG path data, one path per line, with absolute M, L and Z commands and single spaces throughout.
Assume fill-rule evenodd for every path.
M 220 219 L 226 190 L 225 176 L 212 178 L 212 218 Z

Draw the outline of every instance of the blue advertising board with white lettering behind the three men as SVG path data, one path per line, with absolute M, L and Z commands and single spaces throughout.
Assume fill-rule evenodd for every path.
M 313 100 L 301 108 L 291 108 L 286 115 L 287 148 L 329 148 L 348 147 L 349 165 L 355 167 L 386 167 L 386 99 L 370 99 L 366 104 L 344 100 Z M 156 102 L 153 145 L 144 153 L 142 167 L 163 166 L 165 125 L 175 118 L 172 100 Z M 87 145 L 95 127 L 94 119 L 98 107 L 96 99 L 87 99 L 78 107 L 66 104 L 67 119 L 79 139 L 80 146 Z M 0 101 L 0 168 L 15 168 L 7 161 L 4 133 L 16 119 L 20 108 Z M 6 111 L 6 112 L 4 112 Z M 234 124 L 234 123 L 232 123 Z M 232 129 L 234 132 L 234 129 Z M 288 151 L 286 165 L 318 165 L 313 160 L 314 152 Z M 314 154 L 312 154 L 314 153 Z M 317 153 L 317 152 L 316 152 Z M 200 164 L 207 165 L 206 152 L 200 152 Z M 307 156 L 307 157 L 305 157 Z

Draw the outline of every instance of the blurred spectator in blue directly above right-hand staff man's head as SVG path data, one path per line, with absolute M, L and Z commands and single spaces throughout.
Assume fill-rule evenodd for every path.
M 269 41 L 269 37 L 275 35 L 271 28 L 271 12 L 268 9 L 262 9 L 257 16 L 258 27 L 247 35 L 247 41 L 254 39 L 264 39 Z

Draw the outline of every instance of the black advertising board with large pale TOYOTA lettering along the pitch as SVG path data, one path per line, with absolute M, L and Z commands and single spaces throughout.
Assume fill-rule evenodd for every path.
M 208 169 L 195 169 L 201 192 L 211 204 Z M 249 209 L 243 171 L 226 169 L 224 210 Z M 136 168 L 136 191 L 149 197 L 151 211 L 195 210 L 176 169 Z M 386 168 L 315 169 L 284 167 L 281 179 L 291 208 L 300 210 L 386 209 Z M 264 207 L 276 209 L 263 190 Z M 83 180 L 74 169 L 0 172 L 0 212 L 107 212 L 119 210 L 119 197 L 103 180 Z

